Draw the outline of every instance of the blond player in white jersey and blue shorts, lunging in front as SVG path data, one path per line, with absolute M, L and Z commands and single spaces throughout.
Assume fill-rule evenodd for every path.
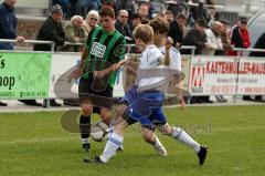
M 156 70 L 160 65 L 169 65 L 169 49 L 170 44 L 166 45 L 166 54 L 162 53 L 153 45 L 153 31 L 152 28 L 146 24 L 141 24 L 134 31 L 136 44 L 144 46 L 142 54 L 140 56 L 140 64 L 137 71 L 137 92 L 131 87 L 131 92 L 128 91 L 126 95 L 130 101 L 128 108 L 119 117 L 115 124 L 114 133 L 110 134 L 108 142 L 105 146 L 104 153 L 99 157 L 95 157 L 94 162 L 107 163 L 116 153 L 116 151 L 123 144 L 124 128 L 135 122 L 156 127 L 160 125 L 163 134 L 170 135 L 176 139 L 183 139 L 187 136 L 183 131 L 179 131 L 177 127 L 172 127 L 167 123 L 167 118 L 162 112 L 163 93 L 159 91 L 159 83 L 167 77 L 159 74 L 150 75 L 150 70 Z M 157 90 L 158 89 L 158 90 Z M 193 145 L 195 151 L 200 154 L 203 153 L 205 158 L 206 148 L 200 146 L 191 138 L 186 138 Z M 200 157 L 200 156 L 199 156 Z M 204 162 L 203 158 L 203 162 Z M 203 163 L 202 162 L 202 163 Z M 200 164 L 201 159 L 200 159 Z

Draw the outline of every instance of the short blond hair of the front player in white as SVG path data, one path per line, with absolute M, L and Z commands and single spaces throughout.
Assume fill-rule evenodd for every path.
M 140 39 L 144 43 L 153 42 L 153 30 L 148 24 L 139 24 L 134 30 L 135 39 Z

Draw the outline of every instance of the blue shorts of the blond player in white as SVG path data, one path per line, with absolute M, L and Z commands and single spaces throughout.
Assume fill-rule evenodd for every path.
M 123 97 L 123 102 L 128 103 L 125 114 L 131 118 L 130 122 L 140 122 L 142 126 L 155 128 L 163 125 L 167 123 L 162 110 L 163 99 L 163 94 L 157 91 L 138 93 L 134 85 Z

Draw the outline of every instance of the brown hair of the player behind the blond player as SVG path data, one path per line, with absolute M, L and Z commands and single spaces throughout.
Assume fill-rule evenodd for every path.
M 149 25 L 153 29 L 155 33 L 168 33 L 169 30 L 168 22 L 159 18 L 152 19 Z

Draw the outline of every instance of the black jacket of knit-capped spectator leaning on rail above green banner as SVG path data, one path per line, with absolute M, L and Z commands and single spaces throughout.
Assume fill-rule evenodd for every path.
M 53 41 L 55 43 L 55 51 L 59 45 L 63 45 L 65 42 L 65 33 L 61 23 L 55 23 L 51 17 L 49 17 L 44 24 L 41 27 L 36 40 Z M 50 44 L 34 44 L 34 51 L 51 51 Z

